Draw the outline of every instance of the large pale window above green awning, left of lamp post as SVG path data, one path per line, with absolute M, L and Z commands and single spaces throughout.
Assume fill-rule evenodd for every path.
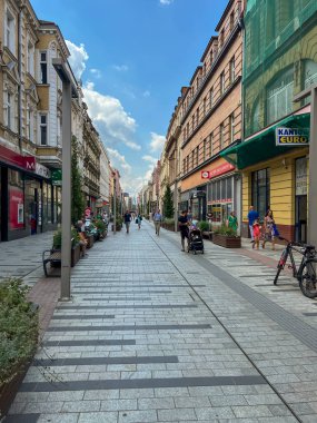
M 267 87 L 267 125 L 293 111 L 294 70 L 288 69 Z

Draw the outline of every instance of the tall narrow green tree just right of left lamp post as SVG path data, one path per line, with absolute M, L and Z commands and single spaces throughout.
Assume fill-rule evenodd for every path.
M 81 190 L 82 176 L 78 166 L 78 142 L 71 138 L 71 220 L 76 224 L 81 219 L 85 209 L 85 199 Z

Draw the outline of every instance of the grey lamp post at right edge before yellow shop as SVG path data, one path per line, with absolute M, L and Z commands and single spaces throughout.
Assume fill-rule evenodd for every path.
M 294 101 L 310 98 L 308 243 L 317 246 L 317 85 L 299 92 Z

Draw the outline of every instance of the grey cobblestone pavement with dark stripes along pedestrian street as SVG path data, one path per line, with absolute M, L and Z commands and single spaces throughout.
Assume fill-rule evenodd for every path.
M 72 270 L 6 423 L 317 422 L 317 303 L 251 252 L 136 226 Z

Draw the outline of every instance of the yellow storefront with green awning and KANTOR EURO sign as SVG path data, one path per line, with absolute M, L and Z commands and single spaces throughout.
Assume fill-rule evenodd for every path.
M 283 237 L 306 242 L 309 121 L 310 114 L 298 111 L 224 151 L 242 175 L 242 236 L 252 205 L 260 220 L 273 210 Z

